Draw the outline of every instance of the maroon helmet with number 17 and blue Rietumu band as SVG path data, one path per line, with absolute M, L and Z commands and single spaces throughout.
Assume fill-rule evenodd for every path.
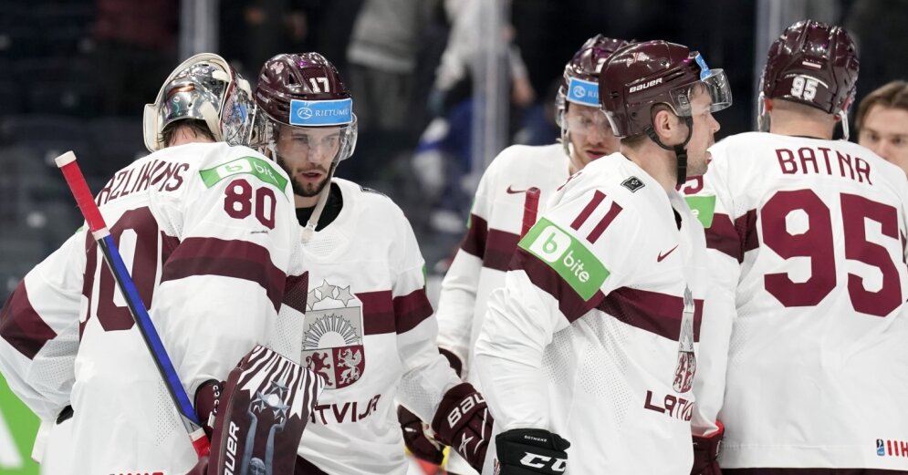
M 273 146 L 280 125 L 339 127 L 341 146 L 335 163 L 353 154 L 357 137 L 353 100 L 337 67 L 325 57 L 301 53 L 268 59 L 254 96 L 269 122 L 268 143 L 259 145 Z

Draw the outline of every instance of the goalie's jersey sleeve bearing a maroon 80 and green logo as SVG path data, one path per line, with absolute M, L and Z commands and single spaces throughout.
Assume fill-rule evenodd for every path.
M 151 309 L 191 396 L 205 380 L 226 378 L 253 346 L 267 345 L 298 243 L 284 171 L 245 148 L 208 153 L 167 212 L 179 243 L 163 263 Z

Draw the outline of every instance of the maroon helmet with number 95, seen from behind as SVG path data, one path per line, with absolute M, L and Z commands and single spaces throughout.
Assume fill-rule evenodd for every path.
M 769 46 L 760 88 L 765 98 L 807 104 L 844 118 L 857 83 L 858 54 L 848 32 L 841 26 L 801 20 Z M 847 122 L 843 127 L 847 129 Z

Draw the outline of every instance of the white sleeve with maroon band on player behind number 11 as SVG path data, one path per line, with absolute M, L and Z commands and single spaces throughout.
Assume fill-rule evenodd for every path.
M 493 160 L 493 164 L 496 161 Z M 454 261 L 444 275 L 438 299 L 438 346 L 460 358 L 464 371 L 469 367 L 470 339 L 479 274 L 483 269 L 488 220 L 492 214 L 490 182 L 494 167 L 483 174 L 470 212 L 469 228 Z

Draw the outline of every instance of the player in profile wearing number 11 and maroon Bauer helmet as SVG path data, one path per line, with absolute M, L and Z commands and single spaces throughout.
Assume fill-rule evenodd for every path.
M 698 451 L 721 437 L 694 405 L 706 248 L 675 186 L 705 171 L 725 73 L 686 46 L 638 43 L 605 62 L 599 98 L 621 152 L 558 187 L 476 341 L 500 431 L 486 474 L 686 474 L 692 422 L 712 436 Z

